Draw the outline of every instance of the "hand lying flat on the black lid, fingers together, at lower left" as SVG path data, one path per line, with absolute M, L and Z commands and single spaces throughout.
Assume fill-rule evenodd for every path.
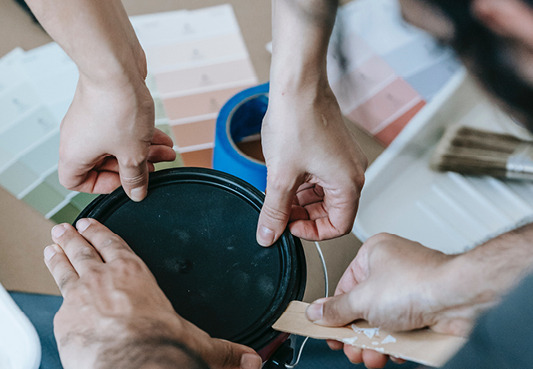
M 176 314 L 119 236 L 93 219 L 76 227 L 55 226 L 56 244 L 44 251 L 64 297 L 54 333 L 65 369 L 261 367 L 251 348 L 213 339 Z

